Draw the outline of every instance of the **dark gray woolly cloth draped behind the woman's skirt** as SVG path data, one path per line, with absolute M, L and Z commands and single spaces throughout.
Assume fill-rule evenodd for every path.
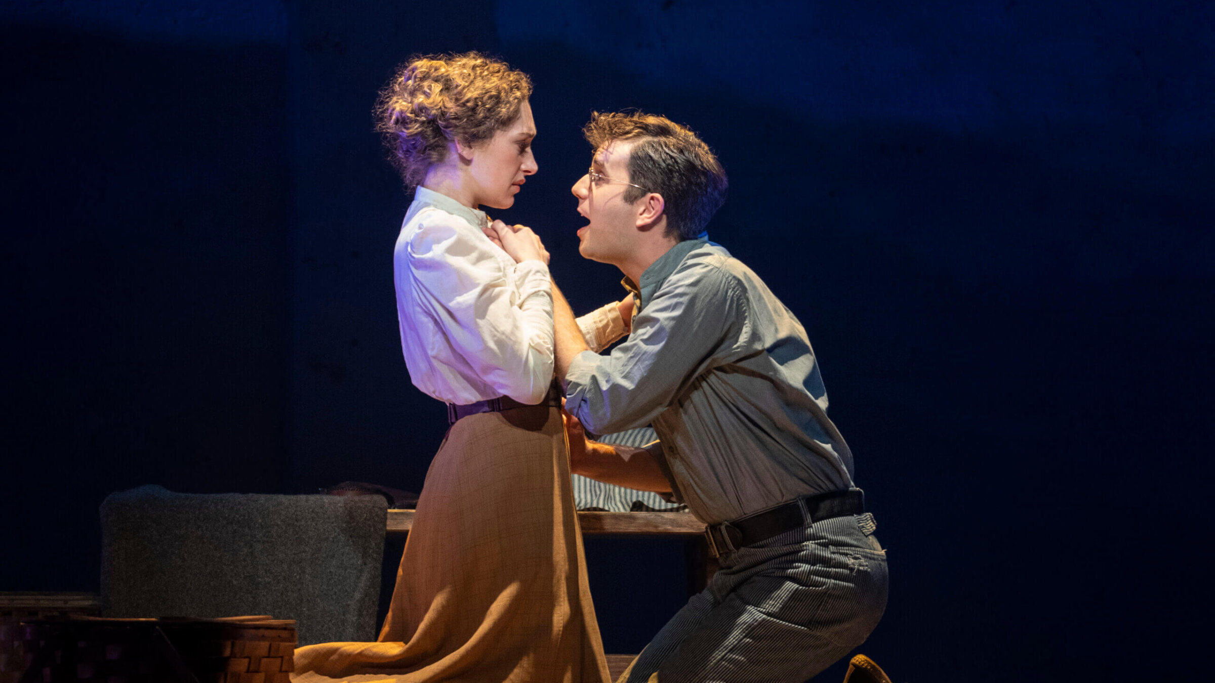
M 112 493 L 103 614 L 265 614 L 294 619 L 301 645 L 374 640 L 386 509 L 382 496 Z

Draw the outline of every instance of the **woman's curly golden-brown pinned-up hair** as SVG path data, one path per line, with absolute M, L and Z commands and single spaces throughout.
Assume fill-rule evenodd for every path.
M 375 101 L 375 130 L 411 190 L 447 158 L 447 145 L 484 142 L 531 95 L 527 74 L 480 52 L 428 55 L 397 67 Z

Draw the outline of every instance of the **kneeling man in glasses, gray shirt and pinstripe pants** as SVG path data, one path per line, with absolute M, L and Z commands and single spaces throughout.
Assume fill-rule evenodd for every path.
M 578 249 L 625 273 L 635 310 L 628 339 L 599 355 L 554 287 L 573 470 L 683 499 L 720 566 L 621 681 L 801 683 L 864 642 L 887 592 L 806 329 L 707 241 L 727 177 L 695 134 L 642 113 L 597 113 L 584 132 Z M 578 423 L 649 423 L 660 441 L 584 441 Z

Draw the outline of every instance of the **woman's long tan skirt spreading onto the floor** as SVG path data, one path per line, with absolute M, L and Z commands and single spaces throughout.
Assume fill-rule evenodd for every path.
M 606 682 L 560 411 L 452 425 L 379 642 L 299 648 L 295 671 L 299 682 Z

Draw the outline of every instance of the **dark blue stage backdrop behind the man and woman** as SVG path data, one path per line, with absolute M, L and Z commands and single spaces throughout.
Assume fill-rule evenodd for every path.
M 443 413 L 400 357 L 408 199 L 369 112 L 408 55 L 479 49 L 533 77 L 541 170 L 501 215 L 580 311 L 618 297 L 573 236 L 590 111 L 718 151 L 711 235 L 806 323 L 876 508 L 863 650 L 895 679 L 1205 651 L 1210 4 L 147 5 L 0 9 L 0 591 L 96 589 L 114 490 L 420 489 Z M 679 549 L 588 553 L 637 651 Z

